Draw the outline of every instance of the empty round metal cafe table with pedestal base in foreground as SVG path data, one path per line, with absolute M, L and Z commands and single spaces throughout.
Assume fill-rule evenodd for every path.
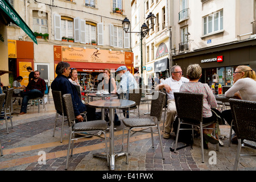
M 109 128 L 109 156 L 105 156 L 109 157 L 109 168 L 110 170 L 114 170 L 115 169 L 115 157 L 118 156 L 123 156 L 126 153 L 125 152 L 118 152 L 117 154 L 115 154 L 114 152 L 114 109 L 122 109 L 122 108 L 127 108 L 127 107 L 132 107 L 135 106 L 135 102 L 134 101 L 130 101 L 130 100 L 98 100 L 98 101 L 92 101 L 89 102 L 88 104 L 90 107 L 96 107 L 96 108 L 101 108 L 101 109 L 109 109 L 109 119 L 110 119 L 110 128 Z M 95 155 L 97 156 L 97 155 Z M 102 155 L 100 155 L 102 156 Z

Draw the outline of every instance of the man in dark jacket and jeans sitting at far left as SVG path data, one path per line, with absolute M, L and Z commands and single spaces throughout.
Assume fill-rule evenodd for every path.
M 20 109 L 20 113 L 18 115 L 23 115 L 27 113 L 27 104 L 28 101 L 32 98 L 38 98 L 44 96 L 44 91 L 46 90 L 46 82 L 40 78 L 40 72 L 34 72 L 34 79 L 31 80 L 27 87 L 26 92 L 21 94 L 22 96 L 22 106 Z

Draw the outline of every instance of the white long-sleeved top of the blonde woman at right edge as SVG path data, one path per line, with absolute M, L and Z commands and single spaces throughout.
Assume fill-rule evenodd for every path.
M 233 97 L 236 92 L 240 93 L 242 100 L 256 101 L 256 81 L 251 78 L 240 78 L 225 92 L 225 97 Z

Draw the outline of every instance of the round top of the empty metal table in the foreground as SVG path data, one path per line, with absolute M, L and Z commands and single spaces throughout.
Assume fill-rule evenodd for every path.
M 130 100 L 113 99 L 113 100 L 98 100 L 88 103 L 91 107 L 97 107 L 102 109 L 118 109 L 135 106 L 136 103 Z

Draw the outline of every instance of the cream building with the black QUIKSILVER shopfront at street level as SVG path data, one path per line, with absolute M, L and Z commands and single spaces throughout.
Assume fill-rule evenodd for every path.
M 256 69 L 256 1 L 180 0 L 174 8 L 174 65 L 203 68 L 201 82 L 233 85 L 238 65 Z

